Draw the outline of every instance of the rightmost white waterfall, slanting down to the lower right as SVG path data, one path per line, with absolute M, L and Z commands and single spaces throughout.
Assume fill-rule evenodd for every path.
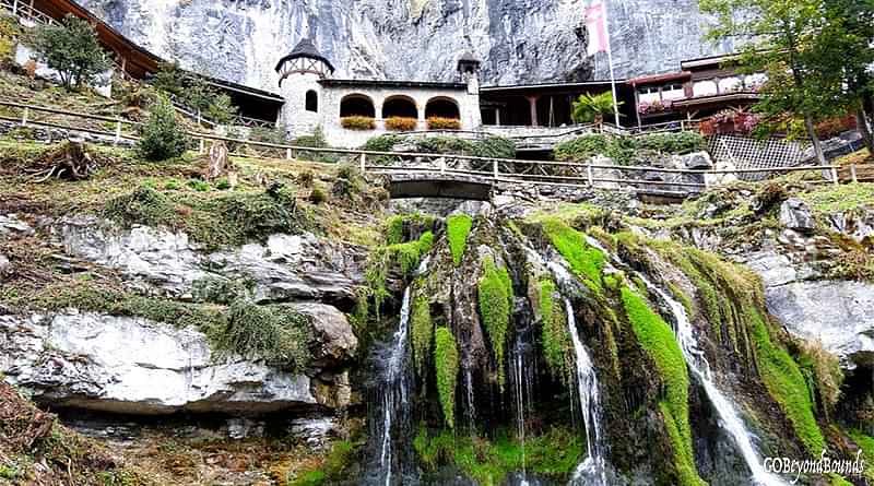
M 753 484 L 761 486 L 786 485 L 779 477 L 765 471 L 759 461 L 758 453 L 753 447 L 751 434 L 746 429 L 743 419 L 741 419 L 737 410 L 731 400 L 719 391 L 713 382 L 710 364 L 707 361 L 704 352 L 698 347 L 698 342 L 695 339 L 695 333 L 693 332 L 692 322 L 686 315 L 686 309 L 675 298 L 650 282 L 646 275 L 640 272 L 637 272 L 637 275 L 643 281 L 643 284 L 650 292 L 659 295 L 659 297 L 668 304 L 668 307 L 670 307 L 671 313 L 676 321 L 676 337 L 683 351 L 683 356 L 686 358 L 686 364 L 701 381 L 707 398 L 710 400 L 710 403 L 713 404 L 713 408 L 716 408 L 719 415 L 720 424 L 729 431 L 737 449 L 740 449 L 746 465 L 753 474 Z

